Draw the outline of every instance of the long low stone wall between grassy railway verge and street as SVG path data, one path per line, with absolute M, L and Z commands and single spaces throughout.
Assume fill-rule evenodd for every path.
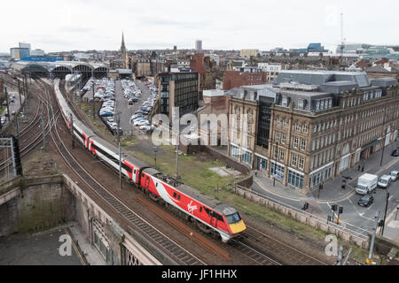
M 248 188 L 242 187 L 238 184 L 234 184 L 233 191 L 237 195 L 241 195 L 254 203 L 277 210 L 278 212 L 291 216 L 301 223 L 311 226 L 317 230 L 321 230 L 326 233 L 333 233 L 344 241 L 354 243 L 363 249 L 367 249 L 369 247 L 368 236 L 364 236 L 361 233 L 356 233 L 347 227 L 339 226 L 332 222 L 326 222 L 324 219 L 318 218 L 315 215 L 298 210 L 297 208 L 287 205 L 286 203 L 280 203 L 277 200 L 271 200 L 269 197 L 257 194 L 256 192 L 250 191 Z

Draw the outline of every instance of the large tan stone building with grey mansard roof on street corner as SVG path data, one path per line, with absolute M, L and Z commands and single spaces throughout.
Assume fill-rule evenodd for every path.
M 397 80 L 370 81 L 360 72 L 282 71 L 268 89 L 275 103 L 262 96 L 248 102 L 259 117 L 250 136 L 254 147 L 243 148 L 230 137 L 236 148 L 230 146 L 229 153 L 252 151 L 254 160 L 246 163 L 251 169 L 304 194 L 397 136 Z

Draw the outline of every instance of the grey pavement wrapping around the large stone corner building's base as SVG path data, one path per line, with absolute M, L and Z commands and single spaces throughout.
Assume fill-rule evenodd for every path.
M 388 168 L 399 162 L 399 157 L 391 157 L 391 152 L 395 148 L 396 142 L 392 142 L 386 149 L 384 149 L 382 166 L 379 166 L 381 158 L 381 150 L 379 150 L 365 160 L 364 172 L 362 172 L 362 170 L 357 171 L 358 165 L 361 164 L 361 167 L 363 165 L 363 161 L 361 160 L 359 163 L 355 164 L 354 167 L 341 172 L 340 176 L 325 181 L 323 189 L 320 190 L 320 192 L 318 188 L 316 188 L 308 195 L 302 195 L 297 190 L 284 186 L 278 180 L 276 180 L 276 184 L 273 186 L 273 179 L 263 175 L 261 172 L 257 172 L 257 177 L 254 177 L 254 182 L 272 195 L 295 202 L 339 203 L 356 194 L 355 187 L 359 176 L 364 173 L 371 173 L 380 177 L 382 174 L 388 173 Z M 343 176 L 349 176 L 352 178 L 352 180 L 347 180 L 347 186 L 345 189 L 341 188 Z

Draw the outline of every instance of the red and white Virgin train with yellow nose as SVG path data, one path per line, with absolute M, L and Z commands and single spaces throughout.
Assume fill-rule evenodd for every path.
M 118 148 L 94 134 L 90 128 L 84 126 L 74 116 L 64 96 L 59 91 L 59 80 L 54 80 L 54 88 L 59 108 L 69 130 L 71 130 L 72 116 L 73 134 L 76 140 L 81 142 L 93 156 L 98 157 L 102 162 L 119 172 Z M 231 206 L 177 182 L 145 164 L 137 157 L 126 154 L 122 156 L 121 173 L 126 180 L 136 184 L 153 199 L 168 203 L 176 210 L 183 212 L 185 218 L 195 221 L 202 231 L 218 233 L 222 241 L 227 242 L 246 230 L 239 212 Z

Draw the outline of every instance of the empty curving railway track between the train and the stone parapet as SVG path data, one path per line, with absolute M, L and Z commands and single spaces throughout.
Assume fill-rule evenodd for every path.
M 176 263 L 184 265 L 206 264 L 198 256 L 195 256 L 187 249 L 184 249 L 184 247 L 179 245 L 176 241 L 170 239 L 168 235 L 162 233 L 144 218 L 141 218 L 139 215 L 137 215 L 137 213 L 135 213 L 133 210 L 130 210 L 127 205 L 122 203 L 109 190 L 107 190 L 106 187 L 102 186 L 91 176 L 89 172 L 82 167 L 82 165 L 70 153 L 68 146 L 66 146 L 66 143 L 59 134 L 59 129 L 56 123 L 59 119 L 59 116 L 55 118 L 53 106 L 48 102 L 51 101 L 51 96 L 49 96 L 48 90 L 46 91 L 46 96 L 47 97 L 42 97 L 42 99 L 43 102 L 46 103 L 46 107 L 48 109 L 47 119 L 49 125 L 51 125 L 51 139 L 60 156 L 63 157 L 65 163 L 76 174 L 76 176 L 78 176 L 84 184 L 90 187 L 90 189 L 105 203 L 112 207 L 113 210 L 119 213 L 123 218 L 127 219 L 131 226 L 134 226 L 139 233 L 142 233 L 145 236 L 145 239 L 152 241 L 155 246 L 166 252 L 168 256 L 176 261 Z M 55 123 L 52 124 L 51 120 L 55 121 Z M 63 123 L 64 121 L 62 120 L 61 122 Z M 65 125 L 63 124 L 63 126 L 60 128 L 64 127 Z

